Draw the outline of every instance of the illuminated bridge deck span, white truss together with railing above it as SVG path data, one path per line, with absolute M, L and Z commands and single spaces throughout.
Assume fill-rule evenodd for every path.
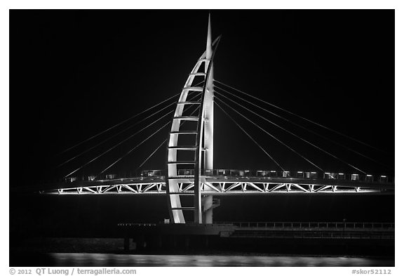
M 192 171 L 179 171 L 192 176 Z M 163 171 L 144 171 L 140 178 L 114 178 L 65 183 L 53 190 L 41 190 L 53 195 L 166 195 L 166 177 Z M 228 195 L 393 195 L 395 186 L 386 176 L 290 172 L 290 171 L 236 171 L 206 170 L 201 176 L 201 196 Z M 73 185 L 72 185 L 73 184 Z M 182 178 L 176 195 L 194 196 L 194 179 Z M 215 205 L 215 201 L 213 201 Z

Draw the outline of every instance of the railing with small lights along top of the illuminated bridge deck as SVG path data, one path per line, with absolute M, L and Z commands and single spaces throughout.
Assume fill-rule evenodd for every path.
M 140 176 L 132 174 L 116 174 L 109 173 L 103 176 L 82 176 L 65 178 L 65 182 L 75 181 L 93 181 L 93 180 L 110 180 L 119 178 L 133 178 L 133 177 L 163 177 L 165 176 L 163 170 L 148 170 L 142 171 Z M 177 176 L 194 176 L 194 169 L 178 169 Z M 224 177 L 262 177 L 262 178 L 302 178 L 302 179 L 329 179 L 329 180 L 347 180 L 353 182 L 366 182 L 366 183 L 394 183 L 394 178 L 388 176 L 373 176 L 370 174 L 358 173 L 318 173 L 316 171 L 273 171 L 273 170 L 236 170 L 236 169 L 211 169 L 204 170 L 203 176 L 224 176 Z

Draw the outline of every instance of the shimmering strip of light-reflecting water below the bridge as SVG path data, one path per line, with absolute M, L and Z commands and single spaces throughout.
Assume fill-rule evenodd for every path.
M 314 256 L 50 254 L 55 266 L 393 266 L 393 260 Z

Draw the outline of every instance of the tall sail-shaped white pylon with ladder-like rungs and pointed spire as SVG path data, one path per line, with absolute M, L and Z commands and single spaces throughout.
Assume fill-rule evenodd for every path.
M 212 42 L 211 36 L 209 15 L 206 51 L 182 88 L 168 137 L 166 193 L 172 223 L 186 223 L 184 211 L 193 211 L 194 223 L 212 221 L 213 199 L 201 198 L 203 173 L 213 169 L 213 57 L 220 37 Z M 182 204 L 184 189 L 193 190 L 193 206 Z

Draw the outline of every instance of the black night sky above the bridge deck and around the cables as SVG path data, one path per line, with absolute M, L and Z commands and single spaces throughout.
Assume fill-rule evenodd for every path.
M 222 34 L 215 55 L 215 79 L 389 152 L 372 150 L 262 105 L 363 155 L 394 166 L 394 11 L 210 12 L 213 36 Z M 159 116 L 152 117 L 55 169 L 140 117 L 70 152 L 58 153 L 180 93 L 187 74 L 206 46 L 207 20 L 208 11 L 203 10 L 11 11 L 11 178 L 13 174 L 35 180 L 62 178 L 158 119 Z M 231 106 L 321 169 L 355 172 L 241 107 Z M 286 170 L 318 171 L 248 121 L 226 110 Z M 387 167 L 270 114 L 260 114 L 367 173 L 393 176 L 394 172 Z M 167 121 L 162 119 L 149 131 L 123 143 L 76 175 L 99 173 Z M 135 171 L 167 135 L 168 128 L 108 172 L 163 169 L 166 152 L 161 148 Z M 215 168 L 278 170 L 217 107 Z M 11 185 L 27 183 L 11 181 Z

